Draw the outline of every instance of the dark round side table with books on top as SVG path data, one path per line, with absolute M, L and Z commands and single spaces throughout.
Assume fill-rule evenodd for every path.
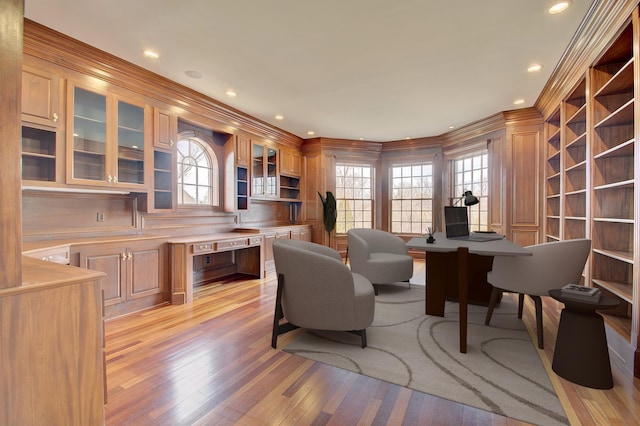
M 582 302 L 562 296 L 560 289 L 550 290 L 549 295 L 564 303 L 553 353 L 553 371 L 582 386 L 611 389 L 613 377 L 607 335 L 604 320 L 596 310 L 612 309 L 620 302 L 605 295 L 597 303 Z

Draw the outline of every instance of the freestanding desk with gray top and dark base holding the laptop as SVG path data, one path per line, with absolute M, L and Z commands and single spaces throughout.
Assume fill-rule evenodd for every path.
M 451 273 L 438 256 L 442 253 L 456 253 L 457 268 L 455 280 L 458 287 L 460 305 L 460 352 L 467 352 L 467 303 L 469 295 L 469 255 L 480 256 L 530 256 L 531 252 L 508 240 L 486 242 L 449 240 L 442 232 L 434 234 L 436 241 L 428 244 L 426 237 L 412 238 L 407 247 L 424 250 L 427 257 L 426 301 L 427 315 L 444 316 L 446 281 Z

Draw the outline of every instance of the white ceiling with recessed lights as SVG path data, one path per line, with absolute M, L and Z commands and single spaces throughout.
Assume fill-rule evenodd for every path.
M 390 141 L 533 106 L 592 0 L 545 3 L 26 0 L 25 16 L 302 138 Z

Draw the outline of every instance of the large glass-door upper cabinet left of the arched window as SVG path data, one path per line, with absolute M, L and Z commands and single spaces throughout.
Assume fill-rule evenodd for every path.
M 69 85 L 67 183 L 146 190 L 150 108 Z

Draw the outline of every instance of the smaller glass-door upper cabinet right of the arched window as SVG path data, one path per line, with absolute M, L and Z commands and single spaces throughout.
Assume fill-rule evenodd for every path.
M 251 148 L 251 196 L 278 196 L 278 150 L 254 143 Z

